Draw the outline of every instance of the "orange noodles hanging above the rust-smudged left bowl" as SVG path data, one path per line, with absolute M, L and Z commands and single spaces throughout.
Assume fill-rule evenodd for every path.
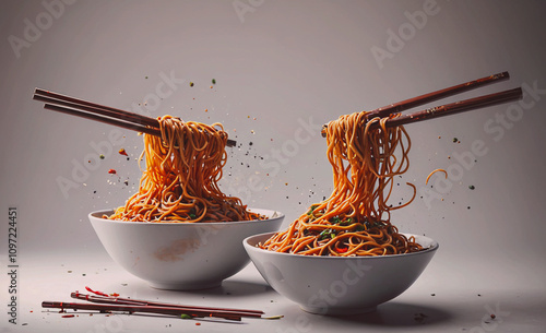
M 218 188 L 227 133 L 221 123 L 158 118 L 162 136 L 144 134 L 146 169 L 139 192 L 110 219 L 136 222 L 233 222 L 263 218 Z M 219 128 L 219 129 L 216 129 Z M 143 158 L 141 155 L 141 160 Z

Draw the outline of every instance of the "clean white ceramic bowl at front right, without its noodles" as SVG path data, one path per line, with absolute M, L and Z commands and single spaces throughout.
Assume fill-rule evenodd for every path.
M 278 294 L 319 314 L 355 314 L 405 292 L 432 259 L 438 242 L 417 235 L 426 250 L 384 257 L 311 257 L 257 248 L 273 233 L 244 240 L 253 264 Z

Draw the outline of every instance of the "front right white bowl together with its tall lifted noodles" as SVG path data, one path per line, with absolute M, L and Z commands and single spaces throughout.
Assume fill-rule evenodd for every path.
M 438 250 L 435 240 L 399 233 L 391 222 L 391 212 L 417 192 L 406 182 L 412 198 L 390 202 L 410 166 L 407 132 L 387 122 L 399 115 L 364 111 L 330 121 L 323 130 L 332 194 L 287 229 L 244 241 L 265 281 L 306 311 L 372 311 L 406 290 Z

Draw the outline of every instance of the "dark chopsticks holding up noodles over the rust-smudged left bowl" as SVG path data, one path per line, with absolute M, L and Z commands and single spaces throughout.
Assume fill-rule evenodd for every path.
M 44 108 L 67 115 L 78 116 L 128 130 L 161 136 L 157 119 L 87 102 L 50 91 L 36 88 L 33 99 L 44 102 Z M 235 146 L 234 140 L 227 140 L 227 146 Z

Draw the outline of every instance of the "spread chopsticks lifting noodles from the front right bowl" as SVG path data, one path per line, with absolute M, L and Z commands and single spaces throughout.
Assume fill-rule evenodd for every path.
M 425 110 L 416 111 L 407 115 L 400 115 L 399 117 L 392 118 L 392 116 L 396 114 L 401 114 L 407 109 L 425 105 L 430 102 L 435 102 L 441 98 L 446 98 L 449 96 L 454 96 L 456 94 L 461 94 L 471 90 L 475 90 L 482 87 L 484 85 L 488 85 L 491 83 L 500 82 L 503 80 L 510 79 L 508 72 L 502 72 L 489 76 L 485 76 L 482 79 L 477 79 L 474 81 L 470 81 L 466 83 L 462 83 L 459 85 L 454 85 L 451 87 L 447 87 L 440 91 L 431 92 L 425 95 L 420 95 L 417 97 L 413 97 L 410 99 L 405 99 L 402 102 L 393 103 L 391 105 L 375 109 L 370 111 L 366 116 L 366 120 L 370 120 L 372 118 L 379 117 L 390 117 L 385 121 L 385 126 L 389 127 L 397 127 L 406 123 L 429 120 L 438 117 L 450 116 L 459 112 L 475 110 L 479 108 L 485 108 L 488 106 L 499 105 L 503 103 L 514 102 L 523 98 L 523 91 L 521 87 L 494 93 L 489 95 L 484 95 L 475 98 L 470 98 L 465 100 L 460 100 L 451 104 L 440 105 L 437 107 L 428 108 Z M 327 128 L 328 123 L 322 127 L 322 136 L 327 136 Z

